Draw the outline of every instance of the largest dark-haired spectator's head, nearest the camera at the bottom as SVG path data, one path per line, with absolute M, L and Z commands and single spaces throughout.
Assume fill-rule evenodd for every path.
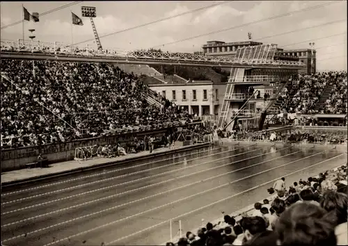
M 336 246 L 335 225 L 328 213 L 309 203 L 290 206 L 276 222 L 278 245 Z

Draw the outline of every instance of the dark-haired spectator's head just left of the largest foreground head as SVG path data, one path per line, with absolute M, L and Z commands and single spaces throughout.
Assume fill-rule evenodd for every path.
M 240 221 L 246 240 L 251 240 L 257 233 L 266 231 L 266 222 L 260 216 L 244 217 Z

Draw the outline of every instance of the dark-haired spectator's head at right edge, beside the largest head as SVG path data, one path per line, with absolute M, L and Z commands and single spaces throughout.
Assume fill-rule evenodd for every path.
M 320 202 L 320 206 L 329 213 L 333 213 L 337 224 L 347 222 L 347 195 L 333 190 L 326 191 Z

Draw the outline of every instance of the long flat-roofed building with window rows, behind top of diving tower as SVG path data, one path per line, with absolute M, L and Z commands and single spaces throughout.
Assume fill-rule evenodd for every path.
M 237 49 L 261 45 L 262 42 L 223 42 L 223 41 L 208 41 L 203 44 L 203 54 L 207 56 L 226 56 L 235 57 Z M 311 74 L 316 72 L 316 51 L 314 49 L 277 49 L 274 55 L 275 60 L 300 60 L 306 64 L 306 68 L 300 69 L 299 72 Z

